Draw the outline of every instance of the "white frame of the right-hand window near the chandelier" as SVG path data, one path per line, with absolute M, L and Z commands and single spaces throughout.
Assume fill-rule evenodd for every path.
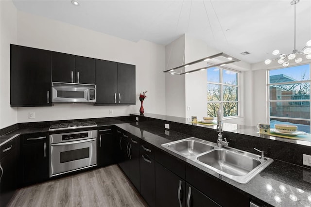
M 310 118 L 295 118 L 295 117 L 285 117 L 285 116 L 270 116 L 270 103 L 276 103 L 276 105 L 278 103 L 282 103 L 282 102 L 289 102 L 289 100 L 278 100 L 276 98 L 276 100 L 270 100 L 270 86 L 273 85 L 284 85 L 284 83 L 286 84 L 297 84 L 297 83 L 309 83 L 310 84 L 310 91 L 311 91 L 311 63 L 304 63 L 304 64 L 297 64 L 297 65 L 293 65 L 292 67 L 295 66 L 300 66 L 300 65 L 309 65 L 309 80 L 299 80 L 299 81 L 290 81 L 290 82 L 280 82 L 280 83 L 269 83 L 270 82 L 270 71 L 272 70 L 279 70 L 279 69 L 285 69 L 288 67 L 278 67 L 278 68 L 273 68 L 273 69 L 267 69 L 267 119 L 268 119 L 268 123 L 270 123 L 271 119 L 281 119 L 281 120 L 297 120 L 297 121 L 309 121 L 311 123 L 311 104 L 309 105 L 310 108 Z M 311 96 L 311 94 L 310 94 Z M 309 99 L 293 99 L 290 102 L 311 102 L 311 97 L 309 96 Z M 303 105 L 303 104 L 301 104 Z M 311 131 L 311 124 L 310 124 L 310 131 Z

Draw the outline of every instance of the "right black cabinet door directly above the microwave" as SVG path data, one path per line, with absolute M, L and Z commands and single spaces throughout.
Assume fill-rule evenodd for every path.
M 76 56 L 76 83 L 95 84 L 95 59 Z

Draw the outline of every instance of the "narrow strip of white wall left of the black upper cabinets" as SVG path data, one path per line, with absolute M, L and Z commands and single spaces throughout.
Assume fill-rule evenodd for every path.
M 0 0 L 0 128 L 17 123 L 17 109 L 10 107 L 10 44 L 17 43 L 17 9 Z

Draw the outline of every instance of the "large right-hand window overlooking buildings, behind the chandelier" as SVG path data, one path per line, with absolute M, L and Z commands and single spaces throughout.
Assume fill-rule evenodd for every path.
M 269 120 L 310 133 L 310 64 L 268 70 Z

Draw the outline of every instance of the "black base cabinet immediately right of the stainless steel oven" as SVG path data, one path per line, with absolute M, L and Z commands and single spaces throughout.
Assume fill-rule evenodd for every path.
M 104 167 L 115 163 L 113 145 L 112 126 L 100 127 L 97 140 L 97 166 Z

